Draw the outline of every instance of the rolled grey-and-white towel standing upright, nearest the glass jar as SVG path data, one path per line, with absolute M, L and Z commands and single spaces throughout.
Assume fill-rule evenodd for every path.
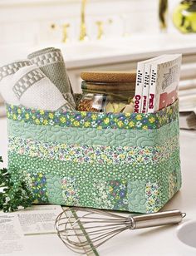
M 42 72 L 53 82 L 53 84 L 61 91 L 66 101 L 76 107 L 71 82 L 66 72 L 66 65 L 63 60 L 61 50 L 54 47 L 48 47 L 28 55 L 28 59 L 32 64 L 36 64 Z

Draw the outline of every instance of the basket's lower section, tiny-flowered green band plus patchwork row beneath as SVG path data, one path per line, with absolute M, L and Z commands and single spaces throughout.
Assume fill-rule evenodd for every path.
M 94 165 L 9 152 L 9 171 L 29 180 L 37 202 L 135 212 L 159 210 L 181 185 L 179 152 L 156 165 Z M 16 180 L 17 183 L 17 180 Z

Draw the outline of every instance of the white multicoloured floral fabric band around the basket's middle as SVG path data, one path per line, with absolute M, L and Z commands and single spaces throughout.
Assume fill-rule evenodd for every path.
M 130 163 L 156 163 L 169 158 L 179 148 L 179 137 L 175 136 L 163 145 L 156 146 L 105 146 L 66 145 L 40 142 L 20 137 L 9 137 L 8 150 L 18 155 L 29 155 L 42 159 L 71 161 L 73 163 L 98 163 L 100 165 L 127 165 Z

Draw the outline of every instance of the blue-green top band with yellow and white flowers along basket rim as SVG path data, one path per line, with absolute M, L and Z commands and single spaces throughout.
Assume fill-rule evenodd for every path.
M 98 113 L 64 112 L 27 109 L 7 105 L 7 117 L 14 121 L 30 122 L 42 126 L 63 126 L 101 129 L 153 130 L 169 124 L 179 116 L 179 103 L 156 113 Z

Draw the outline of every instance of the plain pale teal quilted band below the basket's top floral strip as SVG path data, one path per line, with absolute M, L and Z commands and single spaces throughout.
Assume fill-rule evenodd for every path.
M 110 145 L 110 146 L 154 146 L 163 145 L 179 135 L 179 121 L 173 121 L 157 130 L 120 130 L 95 128 L 72 128 L 61 126 L 39 126 L 31 123 L 7 120 L 8 135 L 40 142 Z

